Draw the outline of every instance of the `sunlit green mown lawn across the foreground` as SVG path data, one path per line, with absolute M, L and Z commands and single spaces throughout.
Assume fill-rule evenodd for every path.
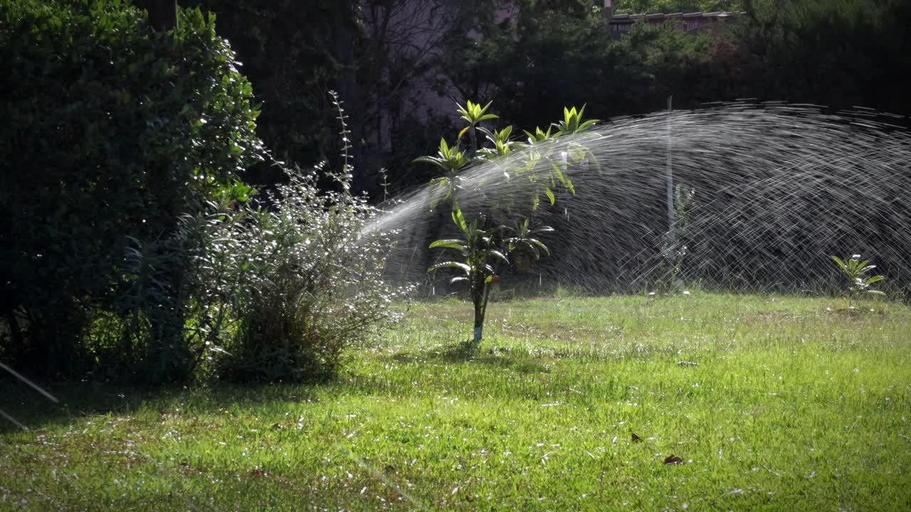
M 7 382 L 0 509 L 909 510 L 911 309 L 847 308 L 496 302 L 466 354 L 422 302 L 332 384 Z

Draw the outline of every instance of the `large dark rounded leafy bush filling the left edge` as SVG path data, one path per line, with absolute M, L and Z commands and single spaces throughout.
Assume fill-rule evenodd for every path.
M 136 359 L 163 358 L 160 379 L 186 374 L 181 266 L 160 261 L 156 315 L 121 316 L 139 286 L 124 254 L 128 236 L 169 239 L 261 158 L 230 47 L 199 10 L 155 33 L 127 2 L 0 0 L 0 63 L 0 357 L 83 372 L 87 330 L 112 313 L 154 323 Z

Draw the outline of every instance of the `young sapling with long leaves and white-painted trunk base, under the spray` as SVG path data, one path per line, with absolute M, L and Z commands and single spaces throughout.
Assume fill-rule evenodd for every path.
M 490 283 L 498 281 L 497 269 L 501 265 L 512 265 L 515 261 L 535 260 L 541 254 L 548 254 L 548 248 L 536 237 L 541 233 L 553 231 L 548 226 L 537 229 L 530 227 L 527 215 L 537 211 L 542 200 L 547 200 L 551 205 L 557 201 L 558 189 L 566 189 L 575 193 L 572 182 L 568 178 L 569 167 L 588 162 L 597 165 L 597 159 L 588 148 L 578 142 L 569 142 L 558 145 L 553 139 L 585 131 L 597 121 L 582 118 L 585 108 L 564 108 L 563 119 L 548 127 L 547 131 L 537 128 L 534 133 L 525 132 L 527 144 L 512 139 L 513 127 L 507 126 L 499 130 L 482 128 L 480 123 L 496 119 L 494 114 L 487 113 L 490 103 L 481 106 L 479 103 L 468 101 L 465 107 L 458 106 L 458 113 L 467 123 L 455 144 L 449 146 L 445 138 L 440 140 L 440 148 L 434 156 L 421 157 L 415 162 L 425 162 L 444 171 L 444 176 L 431 181 L 434 194 L 431 197 L 430 207 L 436 208 L 440 200 L 447 200 L 452 204 L 452 219 L 462 232 L 462 239 L 445 239 L 434 241 L 430 249 L 450 249 L 459 251 L 462 261 L 445 261 L 434 265 L 428 271 L 437 271 L 445 268 L 454 268 L 460 271 L 452 282 L 468 282 L 469 294 L 475 308 L 475 332 L 472 343 L 475 346 L 481 342 L 483 336 L 484 319 L 486 315 L 487 300 L 490 293 Z M 478 148 L 477 132 L 482 133 L 489 146 Z M 461 142 L 465 134 L 469 134 L 469 148 L 462 150 Z M 529 187 L 527 198 L 516 198 L 512 194 L 507 197 L 493 200 L 489 206 L 491 210 L 499 211 L 507 217 L 518 220 L 514 228 L 504 225 L 494 225 L 490 217 L 478 214 L 474 220 L 466 220 L 459 207 L 460 197 L 477 197 L 483 191 L 479 189 L 466 190 L 459 186 L 459 173 L 469 163 L 477 161 L 500 161 L 509 155 L 520 155 L 523 159 L 503 159 L 507 162 L 507 169 L 496 173 L 502 179 L 527 179 Z M 516 165 L 517 162 L 520 162 Z M 526 202 L 527 201 L 527 202 Z M 523 207 L 525 204 L 527 206 Z M 518 209 L 518 210 L 516 210 Z M 519 265 L 524 266 L 524 265 Z

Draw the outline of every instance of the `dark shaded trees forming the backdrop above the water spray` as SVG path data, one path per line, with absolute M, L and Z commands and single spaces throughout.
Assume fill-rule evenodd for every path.
M 902 90 L 911 7 L 902 0 L 617 0 L 616 13 L 745 12 L 696 34 L 640 24 L 629 36 L 610 34 L 602 2 L 591 0 L 183 4 L 218 15 L 279 158 L 337 158 L 325 92 L 341 93 L 354 186 L 374 198 L 381 168 L 396 190 L 426 181 L 428 170 L 411 160 L 456 128 L 451 113 L 466 99 L 494 101 L 502 124 L 525 129 L 547 125 L 564 105 L 588 104 L 605 119 L 665 108 L 670 95 L 675 108 L 755 97 L 911 113 Z

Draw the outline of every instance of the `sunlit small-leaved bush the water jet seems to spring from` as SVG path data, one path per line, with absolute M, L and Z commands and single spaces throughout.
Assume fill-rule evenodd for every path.
M 220 353 L 223 377 L 314 381 L 331 377 L 345 348 L 394 320 L 407 288 L 383 282 L 384 236 L 362 237 L 373 210 L 350 193 L 321 192 L 318 175 L 289 173 L 269 210 L 249 211 L 242 258 L 251 272 Z

